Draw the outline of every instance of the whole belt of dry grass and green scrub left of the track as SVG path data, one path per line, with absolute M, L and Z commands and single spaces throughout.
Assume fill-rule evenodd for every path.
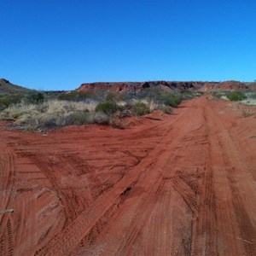
M 189 91 L 174 94 L 148 89 L 126 94 L 91 91 L 28 91 L 22 96 L 0 96 L 0 119 L 12 120 L 19 129 L 55 129 L 67 125 L 108 124 L 125 127 L 124 118 L 160 109 L 172 114 Z

